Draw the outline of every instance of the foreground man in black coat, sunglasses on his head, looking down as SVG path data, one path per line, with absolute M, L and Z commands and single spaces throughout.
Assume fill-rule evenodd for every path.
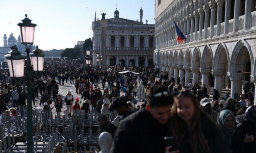
M 164 137 L 168 131 L 173 97 L 162 85 L 151 87 L 146 96 L 146 106 L 129 115 L 117 128 L 110 153 L 165 152 Z

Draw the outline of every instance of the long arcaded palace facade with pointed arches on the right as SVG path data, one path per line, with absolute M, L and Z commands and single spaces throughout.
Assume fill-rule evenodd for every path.
M 256 0 L 156 0 L 155 7 L 156 69 L 185 75 L 186 85 L 192 78 L 207 86 L 211 73 L 214 88 L 231 88 L 231 96 L 247 81 L 256 84 Z

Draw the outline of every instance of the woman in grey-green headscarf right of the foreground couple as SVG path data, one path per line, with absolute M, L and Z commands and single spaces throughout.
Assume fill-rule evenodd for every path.
M 244 139 L 235 127 L 235 115 L 231 110 L 222 110 L 218 115 L 218 125 L 224 133 L 225 153 L 244 153 Z

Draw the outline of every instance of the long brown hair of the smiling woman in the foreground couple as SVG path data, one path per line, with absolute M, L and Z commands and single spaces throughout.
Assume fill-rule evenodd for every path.
M 189 90 L 182 90 L 180 94 L 175 97 L 175 99 L 178 100 L 180 100 L 181 98 L 191 99 L 194 105 L 194 115 L 192 117 L 191 127 L 189 128 L 190 132 L 188 132 L 188 125 L 177 114 L 177 105 L 174 102 L 171 117 L 173 135 L 176 137 L 178 143 L 181 144 L 183 143 L 182 141 L 184 141 L 184 138 L 187 134 L 188 142 L 191 146 L 193 153 L 211 153 L 210 148 L 204 138 L 203 131 L 201 129 L 201 108 L 199 107 L 199 102 L 197 101 L 197 98 Z

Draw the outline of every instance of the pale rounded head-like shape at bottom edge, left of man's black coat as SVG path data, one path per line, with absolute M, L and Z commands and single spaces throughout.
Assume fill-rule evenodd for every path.
M 109 132 L 102 132 L 98 137 L 98 146 L 101 149 L 99 153 L 110 153 L 112 146 L 112 136 Z

